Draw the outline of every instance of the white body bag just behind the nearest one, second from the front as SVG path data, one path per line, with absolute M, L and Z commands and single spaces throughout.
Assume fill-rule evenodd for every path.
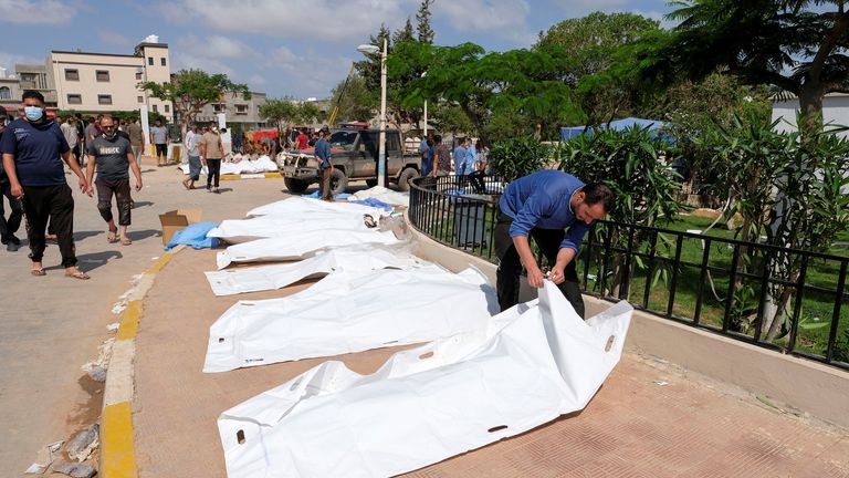
M 203 372 L 427 342 L 483 329 L 496 311 L 495 291 L 474 269 L 334 273 L 296 294 L 228 309 L 209 330 Z

